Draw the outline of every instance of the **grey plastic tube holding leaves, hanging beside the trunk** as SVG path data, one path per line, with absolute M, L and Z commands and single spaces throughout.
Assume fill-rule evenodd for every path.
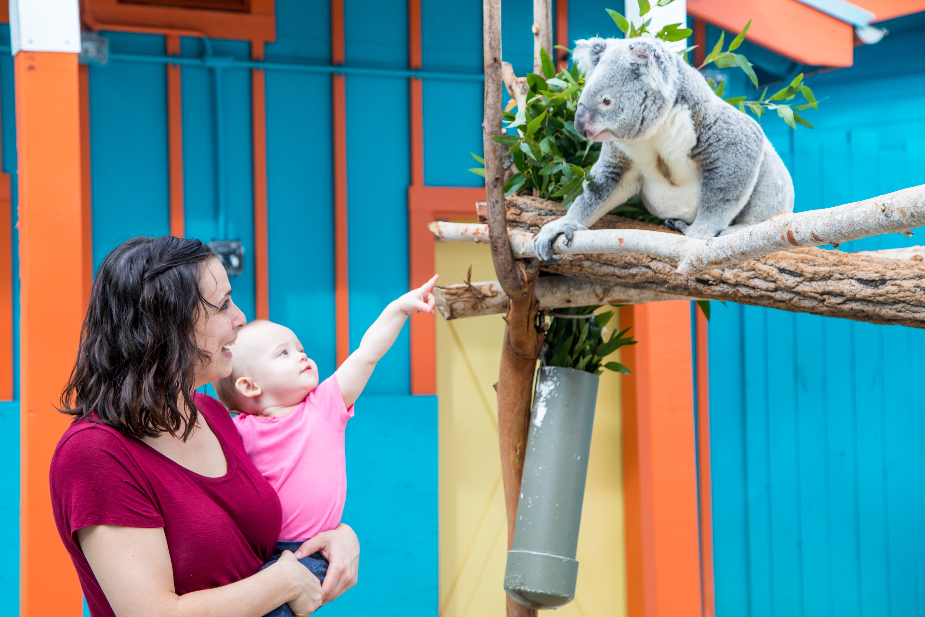
M 540 367 L 504 573 L 504 590 L 531 609 L 555 609 L 575 595 L 575 550 L 597 401 L 598 376 Z

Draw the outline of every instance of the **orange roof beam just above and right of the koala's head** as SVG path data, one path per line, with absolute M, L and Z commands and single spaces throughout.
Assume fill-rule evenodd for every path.
M 850 67 L 854 27 L 797 0 L 687 0 L 687 12 L 802 64 Z

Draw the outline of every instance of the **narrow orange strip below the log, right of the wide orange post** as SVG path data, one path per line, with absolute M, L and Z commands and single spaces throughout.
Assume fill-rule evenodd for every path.
M 713 589 L 712 479 L 709 466 L 709 331 L 707 318 L 697 315 L 697 471 L 700 487 L 700 579 L 704 617 L 716 614 Z

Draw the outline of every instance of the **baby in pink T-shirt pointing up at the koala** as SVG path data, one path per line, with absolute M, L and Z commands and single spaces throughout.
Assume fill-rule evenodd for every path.
M 353 402 L 408 315 L 434 312 L 437 278 L 388 304 L 360 347 L 320 384 L 317 365 L 290 328 L 262 319 L 240 328 L 231 375 L 213 386 L 225 406 L 239 412 L 234 424 L 244 449 L 282 506 L 277 549 L 264 567 L 340 524 L 347 499 L 344 429 Z M 327 560 L 320 552 L 299 561 L 324 581 Z M 291 614 L 283 605 L 267 617 Z

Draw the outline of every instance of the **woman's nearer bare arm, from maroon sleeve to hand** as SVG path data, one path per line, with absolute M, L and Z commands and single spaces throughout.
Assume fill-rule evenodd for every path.
M 286 603 L 304 617 L 321 605 L 321 584 L 290 552 L 237 583 L 178 596 L 163 527 L 97 524 L 77 537 L 117 617 L 261 617 Z

